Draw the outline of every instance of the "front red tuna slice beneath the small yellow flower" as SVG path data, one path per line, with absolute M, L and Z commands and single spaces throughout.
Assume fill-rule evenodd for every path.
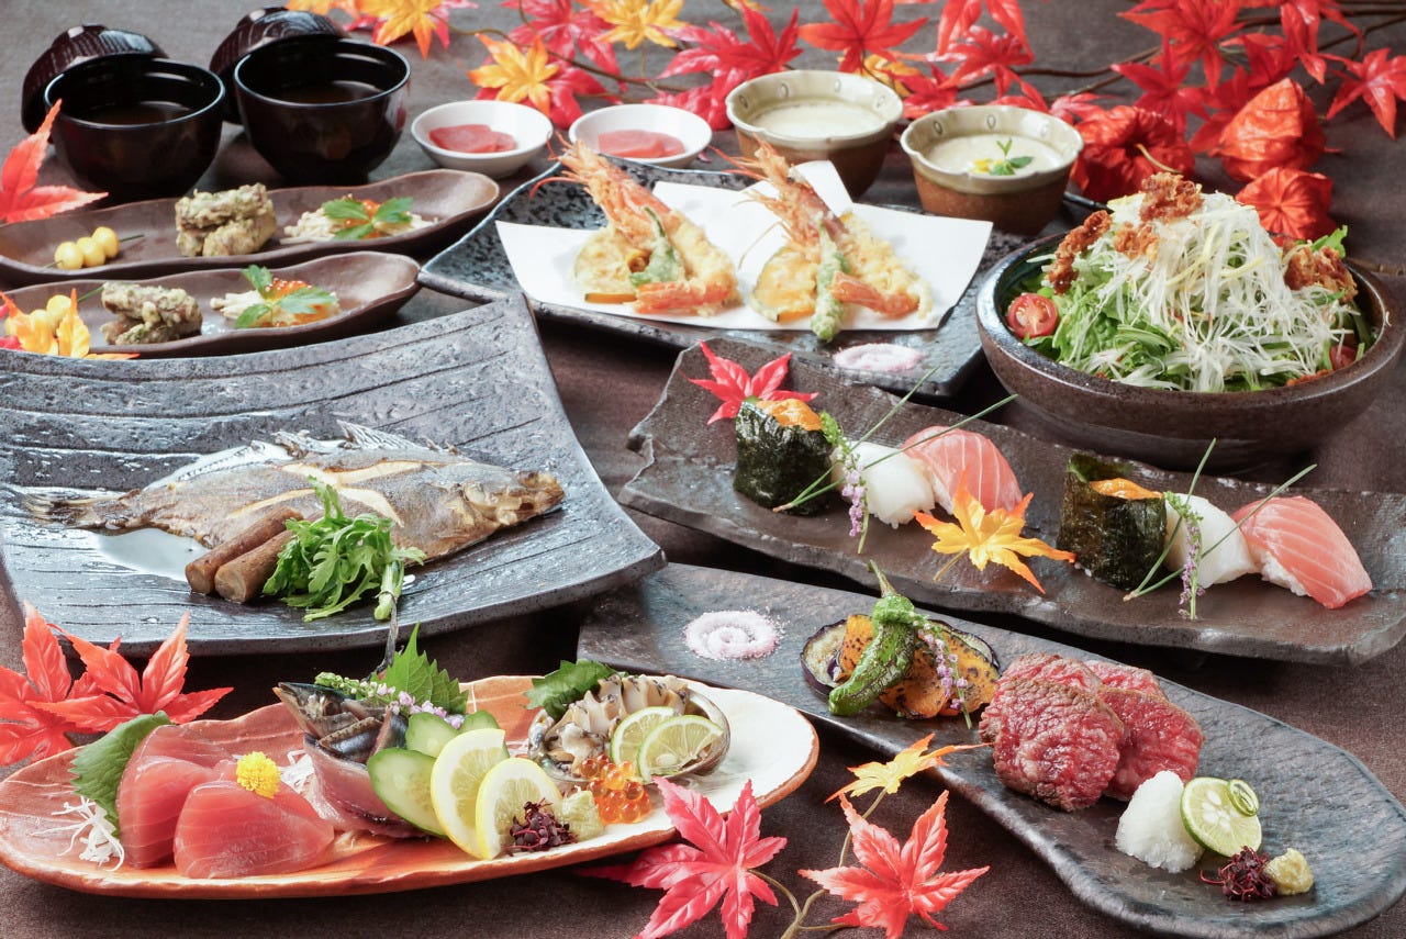
M 285 874 L 321 863 L 335 836 L 291 789 L 269 797 L 219 779 L 186 800 L 176 825 L 176 870 L 183 877 Z

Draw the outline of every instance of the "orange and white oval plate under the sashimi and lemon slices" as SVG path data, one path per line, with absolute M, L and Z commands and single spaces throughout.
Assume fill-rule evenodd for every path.
M 534 711 L 523 706 L 530 679 L 503 675 L 470 683 L 470 700 L 489 711 L 509 741 L 526 738 Z M 770 805 L 793 793 L 815 768 L 820 741 L 806 718 L 790 707 L 738 689 L 706 689 L 733 728 L 733 745 L 716 770 L 689 780 L 689 789 L 728 811 L 742 784 L 751 782 L 759 805 Z M 298 751 L 302 731 L 283 704 L 250 711 L 232 721 L 198 721 L 205 739 L 231 752 L 262 751 L 283 755 Z M 281 759 L 281 756 L 280 756 Z M 586 860 L 640 850 L 673 838 L 675 829 L 658 798 L 641 821 L 610 825 L 598 838 L 550 850 L 503 855 L 477 860 L 443 839 L 381 838 L 359 834 L 339 836 L 326 863 L 288 874 L 259 877 L 181 877 L 167 862 L 156 867 L 111 864 L 100 867 L 77 855 L 53 812 L 73 801 L 69 768 L 73 752 L 25 766 L 0 783 L 0 862 L 45 883 L 117 897 L 163 900 L 267 900 L 270 897 L 342 897 L 422 887 L 443 887 L 496 877 L 512 877 L 579 864 Z

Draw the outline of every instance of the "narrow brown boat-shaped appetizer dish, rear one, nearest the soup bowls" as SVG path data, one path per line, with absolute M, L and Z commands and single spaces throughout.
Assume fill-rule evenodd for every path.
M 278 238 L 287 225 L 323 202 L 343 195 L 375 200 L 408 195 L 411 211 L 423 215 L 430 225 L 378 238 L 373 242 L 311 242 L 283 245 Z M 271 190 L 278 232 L 263 250 L 254 254 L 222 257 L 184 257 L 176 247 L 176 200 L 159 198 L 128 202 L 87 212 L 65 212 L 37 222 L 15 222 L 0 228 L 0 278 L 10 284 L 39 284 L 53 280 L 82 280 L 94 274 L 104 280 L 155 277 L 173 271 L 208 270 L 211 267 L 243 267 L 245 264 L 288 264 L 292 261 L 340 254 L 375 247 L 381 252 L 429 252 L 464 231 L 498 198 L 498 183 L 481 173 L 460 170 L 423 170 L 406 173 L 367 186 L 301 186 Z M 53 249 L 91 235 L 98 225 L 107 225 L 122 242 L 122 253 L 103 267 L 65 271 L 53 267 Z M 141 238 L 134 238 L 139 235 Z M 976 336 L 976 322 L 972 325 Z

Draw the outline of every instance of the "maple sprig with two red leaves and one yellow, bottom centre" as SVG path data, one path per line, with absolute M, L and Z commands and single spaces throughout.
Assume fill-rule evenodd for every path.
M 849 835 L 839 850 L 839 864 L 828 870 L 799 872 L 824 887 L 804 902 L 799 901 L 783 883 L 758 870 L 786 846 L 786 839 L 761 836 L 761 808 L 752 797 L 751 782 L 742 784 L 733 812 L 724 820 L 703 796 L 666 779 L 655 780 L 664 797 L 664 811 L 688 843 L 650 848 L 633 863 L 591 867 L 581 873 L 665 891 L 650 922 L 636 939 L 659 939 L 678 932 L 718 907 L 718 901 L 721 901 L 718 912 L 728 939 L 744 939 L 752 924 L 754 897 L 776 905 L 776 891 L 786 897 L 794 911 L 792 922 L 780 933 L 782 939 L 794 939 L 800 932 L 827 929 L 827 926 L 804 925 L 810 908 L 825 895 L 825 891 L 859 901 L 859 905 L 848 914 L 832 919 L 834 925 L 877 926 L 887 931 L 887 939 L 897 939 L 908 917 L 917 914 L 928 924 L 945 929 L 932 919 L 934 914 L 990 870 L 979 867 L 938 873 L 946 850 L 948 794 L 942 793 L 918 818 L 908 843 L 901 848 L 887 831 L 865 821 L 845 796 L 846 791 L 880 789 L 865 812 L 865 817 L 869 817 L 887 793 L 898 791 L 903 780 L 922 769 L 941 765 L 946 753 L 973 749 L 973 746 L 943 746 L 925 753 L 931 741 L 929 734 L 889 763 L 865 763 L 851 770 L 856 775 L 856 782 L 835 793 L 849 822 Z M 845 866 L 851 839 L 863 867 Z

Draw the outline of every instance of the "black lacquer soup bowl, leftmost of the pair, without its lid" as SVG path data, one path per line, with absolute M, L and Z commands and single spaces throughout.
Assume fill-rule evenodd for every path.
M 79 181 L 129 201 L 180 195 L 219 149 L 225 86 L 208 69 L 145 56 L 80 62 L 44 90 L 53 142 Z

